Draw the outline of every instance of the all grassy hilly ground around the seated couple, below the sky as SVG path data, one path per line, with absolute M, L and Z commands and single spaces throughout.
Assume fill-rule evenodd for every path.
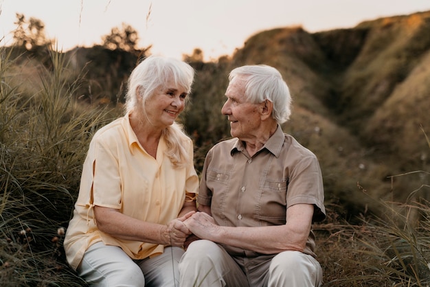
M 229 71 L 281 71 L 293 95 L 282 128 L 317 154 L 324 176 L 328 219 L 315 231 L 326 286 L 430 282 L 429 35 L 422 12 L 317 33 L 268 30 L 217 62 L 186 57 L 196 81 L 181 121 L 198 172 L 207 150 L 229 137 L 220 113 Z M 60 231 L 89 141 L 122 115 L 142 54 L 1 47 L 0 56 L 0 282 L 82 286 Z

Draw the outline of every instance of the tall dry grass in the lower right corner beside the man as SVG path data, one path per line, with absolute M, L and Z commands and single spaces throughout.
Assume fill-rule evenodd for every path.
M 430 148 L 427 135 L 426 139 Z M 429 179 L 425 171 L 398 176 L 415 173 Z M 381 215 L 363 215 L 359 225 L 350 225 L 338 214 L 317 225 L 325 286 L 430 286 L 429 194 L 425 183 L 409 192 L 405 203 L 372 198 Z

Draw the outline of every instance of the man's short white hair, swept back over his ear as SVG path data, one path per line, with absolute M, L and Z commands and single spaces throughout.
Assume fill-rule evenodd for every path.
M 229 80 L 245 80 L 245 97 L 253 104 L 264 100 L 273 103 L 273 119 L 278 124 L 288 121 L 291 115 L 291 94 L 281 73 L 267 65 L 247 65 L 233 69 Z

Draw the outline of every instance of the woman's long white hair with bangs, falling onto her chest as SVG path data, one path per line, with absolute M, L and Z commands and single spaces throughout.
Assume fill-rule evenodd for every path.
M 143 111 L 144 116 L 148 119 L 145 102 L 160 88 L 165 89 L 168 83 L 173 82 L 190 93 L 193 81 L 194 69 L 187 63 L 174 58 L 149 56 L 135 67 L 128 78 L 126 113 L 137 108 L 137 96 L 141 96 L 143 106 L 139 107 L 139 111 Z M 163 135 L 168 146 L 166 155 L 174 167 L 183 167 L 190 157 L 182 145 L 181 139 L 185 135 L 183 126 L 174 122 L 163 130 Z

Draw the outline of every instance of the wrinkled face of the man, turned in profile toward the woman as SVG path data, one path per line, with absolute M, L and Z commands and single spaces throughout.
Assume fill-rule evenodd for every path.
M 242 141 L 252 139 L 261 124 L 260 104 L 251 104 L 245 98 L 245 81 L 234 78 L 225 92 L 227 101 L 221 113 L 230 122 L 230 134 Z

